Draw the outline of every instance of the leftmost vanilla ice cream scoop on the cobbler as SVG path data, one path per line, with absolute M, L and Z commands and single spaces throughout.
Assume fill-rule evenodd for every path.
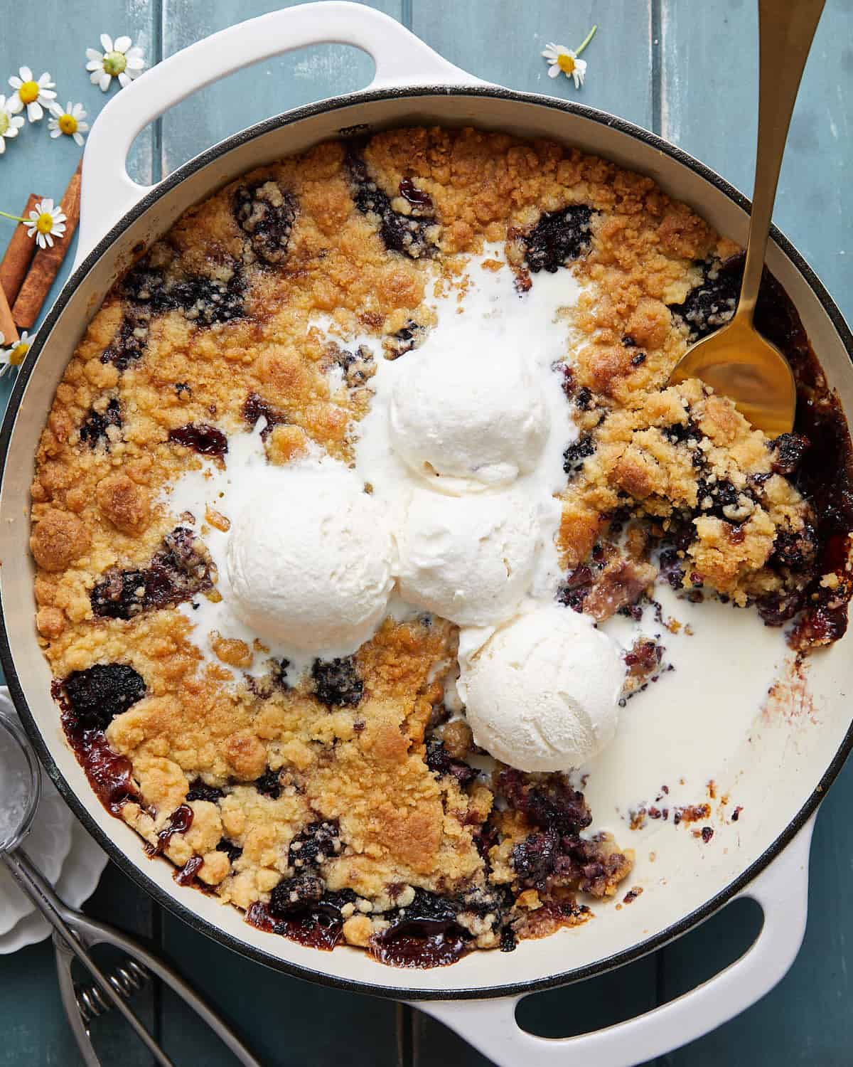
M 385 615 L 395 543 L 383 509 L 337 464 L 275 467 L 232 517 L 230 606 L 272 647 L 354 652 Z

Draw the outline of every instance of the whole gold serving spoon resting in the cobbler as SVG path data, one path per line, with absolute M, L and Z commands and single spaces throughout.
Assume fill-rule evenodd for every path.
M 738 308 L 730 322 L 687 350 L 670 379 L 701 378 L 771 437 L 793 429 L 796 387 L 788 361 L 753 319 L 788 126 L 824 2 L 758 0 L 758 147 Z

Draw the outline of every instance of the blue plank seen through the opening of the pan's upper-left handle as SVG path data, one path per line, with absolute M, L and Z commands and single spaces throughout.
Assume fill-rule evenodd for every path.
M 246 0 L 239 18 L 293 6 L 295 0 Z M 402 0 L 370 4 L 396 18 Z M 163 0 L 163 53 L 184 48 L 238 20 L 228 0 L 199 4 L 195 0 Z M 224 137 L 253 123 L 339 93 L 367 85 L 372 61 L 357 48 L 323 45 L 302 48 L 280 59 L 256 64 L 209 85 L 173 108 L 162 123 L 162 172 L 168 174 L 186 160 Z

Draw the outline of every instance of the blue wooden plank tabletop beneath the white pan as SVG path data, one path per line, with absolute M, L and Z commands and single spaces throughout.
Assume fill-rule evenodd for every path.
M 4 19 L 0 76 L 27 64 L 49 69 L 63 105 L 82 100 L 90 121 L 103 103 L 84 70 L 86 46 L 101 32 L 131 34 L 149 62 L 170 55 L 274 0 L 46 0 Z M 611 111 L 681 145 L 749 192 L 757 97 L 753 0 L 377 0 L 453 63 L 511 87 L 558 93 Z M 538 52 L 549 41 L 577 47 L 593 22 L 586 85 L 550 81 Z M 306 49 L 232 76 L 176 107 L 136 140 L 130 170 L 157 181 L 239 128 L 287 108 L 353 90 L 370 78 L 354 49 Z M 3 90 L 0 89 L 0 92 Z M 115 92 L 115 89 L 112 90 Z M 853 317 L 853 3 L 828 0 L 791 127 L 775 220 Z M 27 129 L 0 157 L 0 209 L 20 210 L 29 192 L 59 198 L 78 150 L 50 141 L 46 123 Z M 0 220 L 0 224 L 3 224 Z M 4 244 L 0 233 L 0 244 Z M 69 257 L 70 258 L 70 257 Z M 54 292 L 66 271 L 57 283 Z M 9 378 L 0 382 L 5 402 Z M 853 988 L 848 940 L 853 910 L 853 765 L 842 771 L 818 817 L 811 853 L 806 940 L 788 976 L 762 1002 L 702 1040 L 663 1057 L 671 1067 L 751 1067 L 853 1063 Z M 425 1016 L 387 1001 L 308 985 L 247 962 L 155 907 L 108 867 L 87 910 L 150 939 L 242 1031 L 264 1064 L 485 1064 Z M 755 936 L 757 908 L 735 905 L 654 956 L 566 990 L 529 998 L 528 1029 L 558 1036 L 605 1025 L 654 1007 L 709 977 Z M 151 987 L 138 1009 L 179 1064 L 215 1067 L 230 1058 L 164 990 Z M 47 944 L 0 957 L 0 1067 L 76 1067 Z M 114 1019 L 99 1020 L 104 1064 L 142 1067 L 149 1057 Z M 659 1065 L 660 1067 L 660 1065 Z

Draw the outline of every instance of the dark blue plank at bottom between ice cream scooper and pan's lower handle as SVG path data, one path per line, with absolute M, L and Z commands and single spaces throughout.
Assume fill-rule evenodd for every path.
M 273 935 L 271 935 L 273 936 Z M 243 959 L 163 914 L 163 955 L 228 1021 L 262 1064 L 395 1067 L 392 1001 L 301 982 Z M 179 1064 L 231 1067 L 220 1041 L 163 991 L 161 1040 Z

